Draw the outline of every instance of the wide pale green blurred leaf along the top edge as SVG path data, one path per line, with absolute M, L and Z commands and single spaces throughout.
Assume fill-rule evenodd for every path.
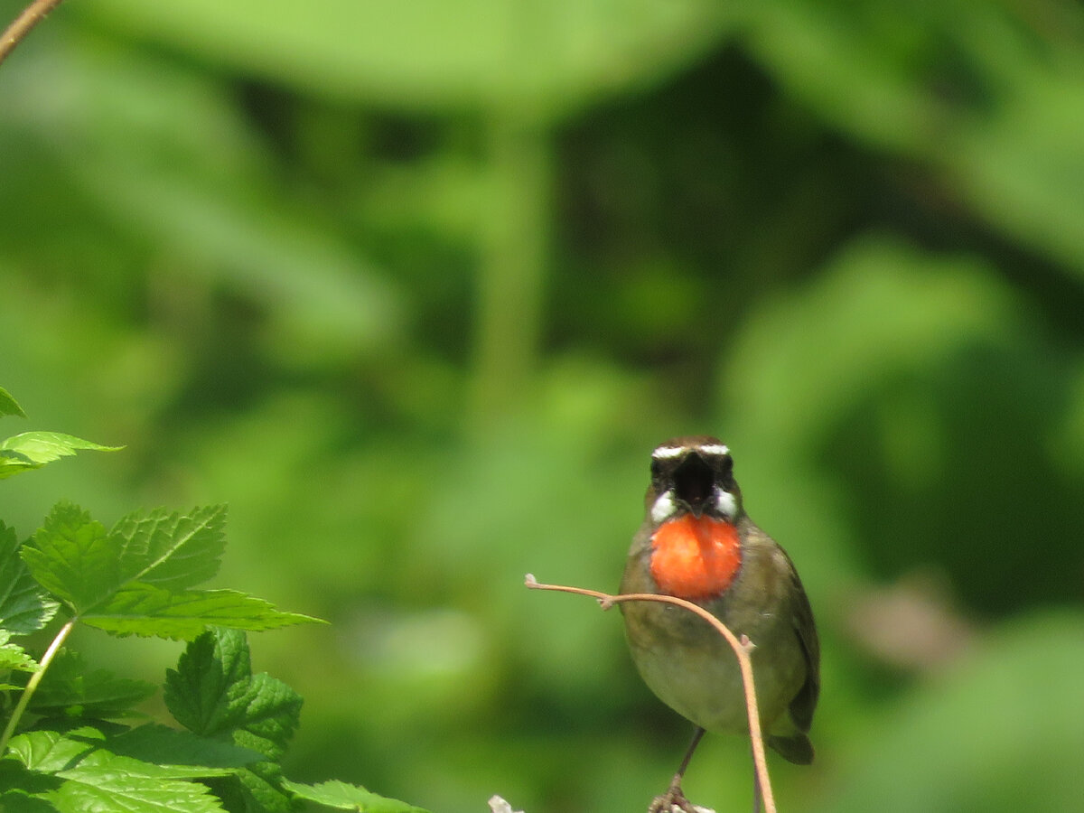
M 322 0 L 311 9 L 190 0 L 183 11 L 107 0 L 88 12 L 320 94 L 560 113 L 684 64 L 733 17 L 710 0 Z

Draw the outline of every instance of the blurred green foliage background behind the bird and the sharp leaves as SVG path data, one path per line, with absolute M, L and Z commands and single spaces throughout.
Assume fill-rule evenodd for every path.
M 229 502 L 218 583 L 333 622 L 253 640 L 294 778 L 643 810 L 689 726 L 522 577 L 616 588 L 706 431 L 824 640 L 780 809 L 1082 809 L 1079 3 L 80 0 L 0 156 L 3 433 L 127 444 L 0 516 Z

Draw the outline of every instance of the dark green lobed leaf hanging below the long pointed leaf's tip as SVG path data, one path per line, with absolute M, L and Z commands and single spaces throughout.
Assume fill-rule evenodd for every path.
M 181 725 L 279 759 L 300 721 L 301 698 L 266 673 L 253 675 L 236 630 L 205 632 L 166 672 L 166 706 Z

